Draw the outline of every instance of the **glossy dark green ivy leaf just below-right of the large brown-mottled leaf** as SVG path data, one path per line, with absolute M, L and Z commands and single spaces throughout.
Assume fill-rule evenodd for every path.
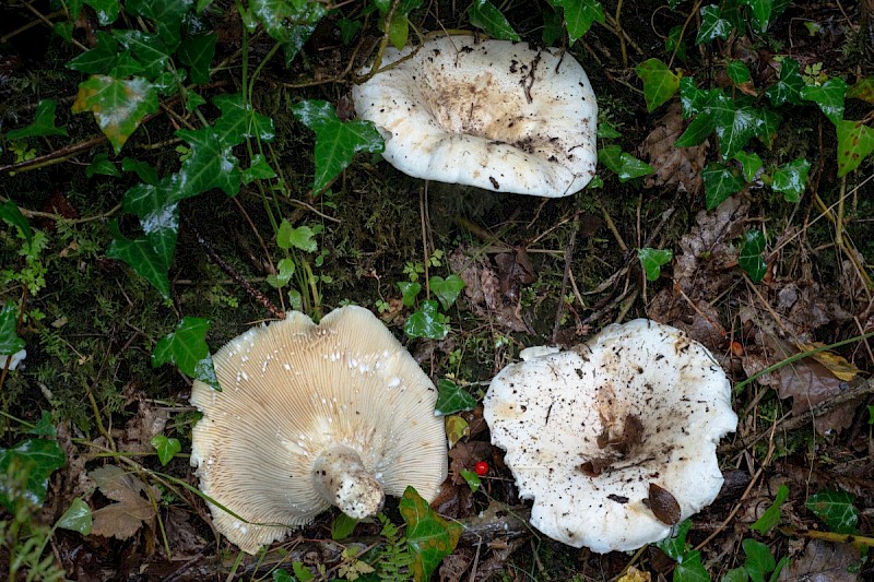
M 231 146 L 218 138 L 211 127 L 199 130 L 180 129 L 176 135 L 191 146 L 191 155 L 179 168 L 179 179 L 185 198 L 197 195 L 213 188 L 220 188 L 227 195 L 239 191 L 239 159 Z

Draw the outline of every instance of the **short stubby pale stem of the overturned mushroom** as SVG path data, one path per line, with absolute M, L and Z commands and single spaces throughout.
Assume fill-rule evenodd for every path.
M 324 450 L 316 459 L 312 482 L 329 503 L 356 520 L 376 515 L 386 501 L 382 485 L 364 467 L 358 453 L 349 447 Z

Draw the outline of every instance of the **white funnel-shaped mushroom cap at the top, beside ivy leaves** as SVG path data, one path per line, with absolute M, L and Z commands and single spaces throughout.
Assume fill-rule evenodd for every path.
M 413 50 L 388 48 L 382 66 Z M 382 134 L 382 156 L 416 178 L 557 198 L 594 176 L 594 93 L 558 49 L 439 37 L 352 96 Z

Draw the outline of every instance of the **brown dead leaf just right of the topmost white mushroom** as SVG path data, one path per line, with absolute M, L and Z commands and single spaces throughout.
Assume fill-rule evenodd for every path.
M 701 189 L 701 169 L 707 154 L 707 141 L 693 147 L 674 147 L 674 142 L 686 129 L 680 102 L 671 104 L 659 119 L 641 146 L 656 173 L 648 176 L 645 186 L 674 186 L 680 192 L 696 195 Z

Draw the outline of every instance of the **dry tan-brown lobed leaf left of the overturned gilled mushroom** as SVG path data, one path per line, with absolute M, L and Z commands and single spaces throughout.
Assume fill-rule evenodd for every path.
M 152 501 L 142 495 L 146 492 L 146 485 L 139 477 L 115 465 L 95 468 L 88 476 L 94 479 L 103 495 L 117 501 L 94 511 L 92 534 L 128 539 L 143 523 L 151 524 L 154 520 Z M 154 487 L 150 487 L 150 495 L 155 500 L 161 498 Z

